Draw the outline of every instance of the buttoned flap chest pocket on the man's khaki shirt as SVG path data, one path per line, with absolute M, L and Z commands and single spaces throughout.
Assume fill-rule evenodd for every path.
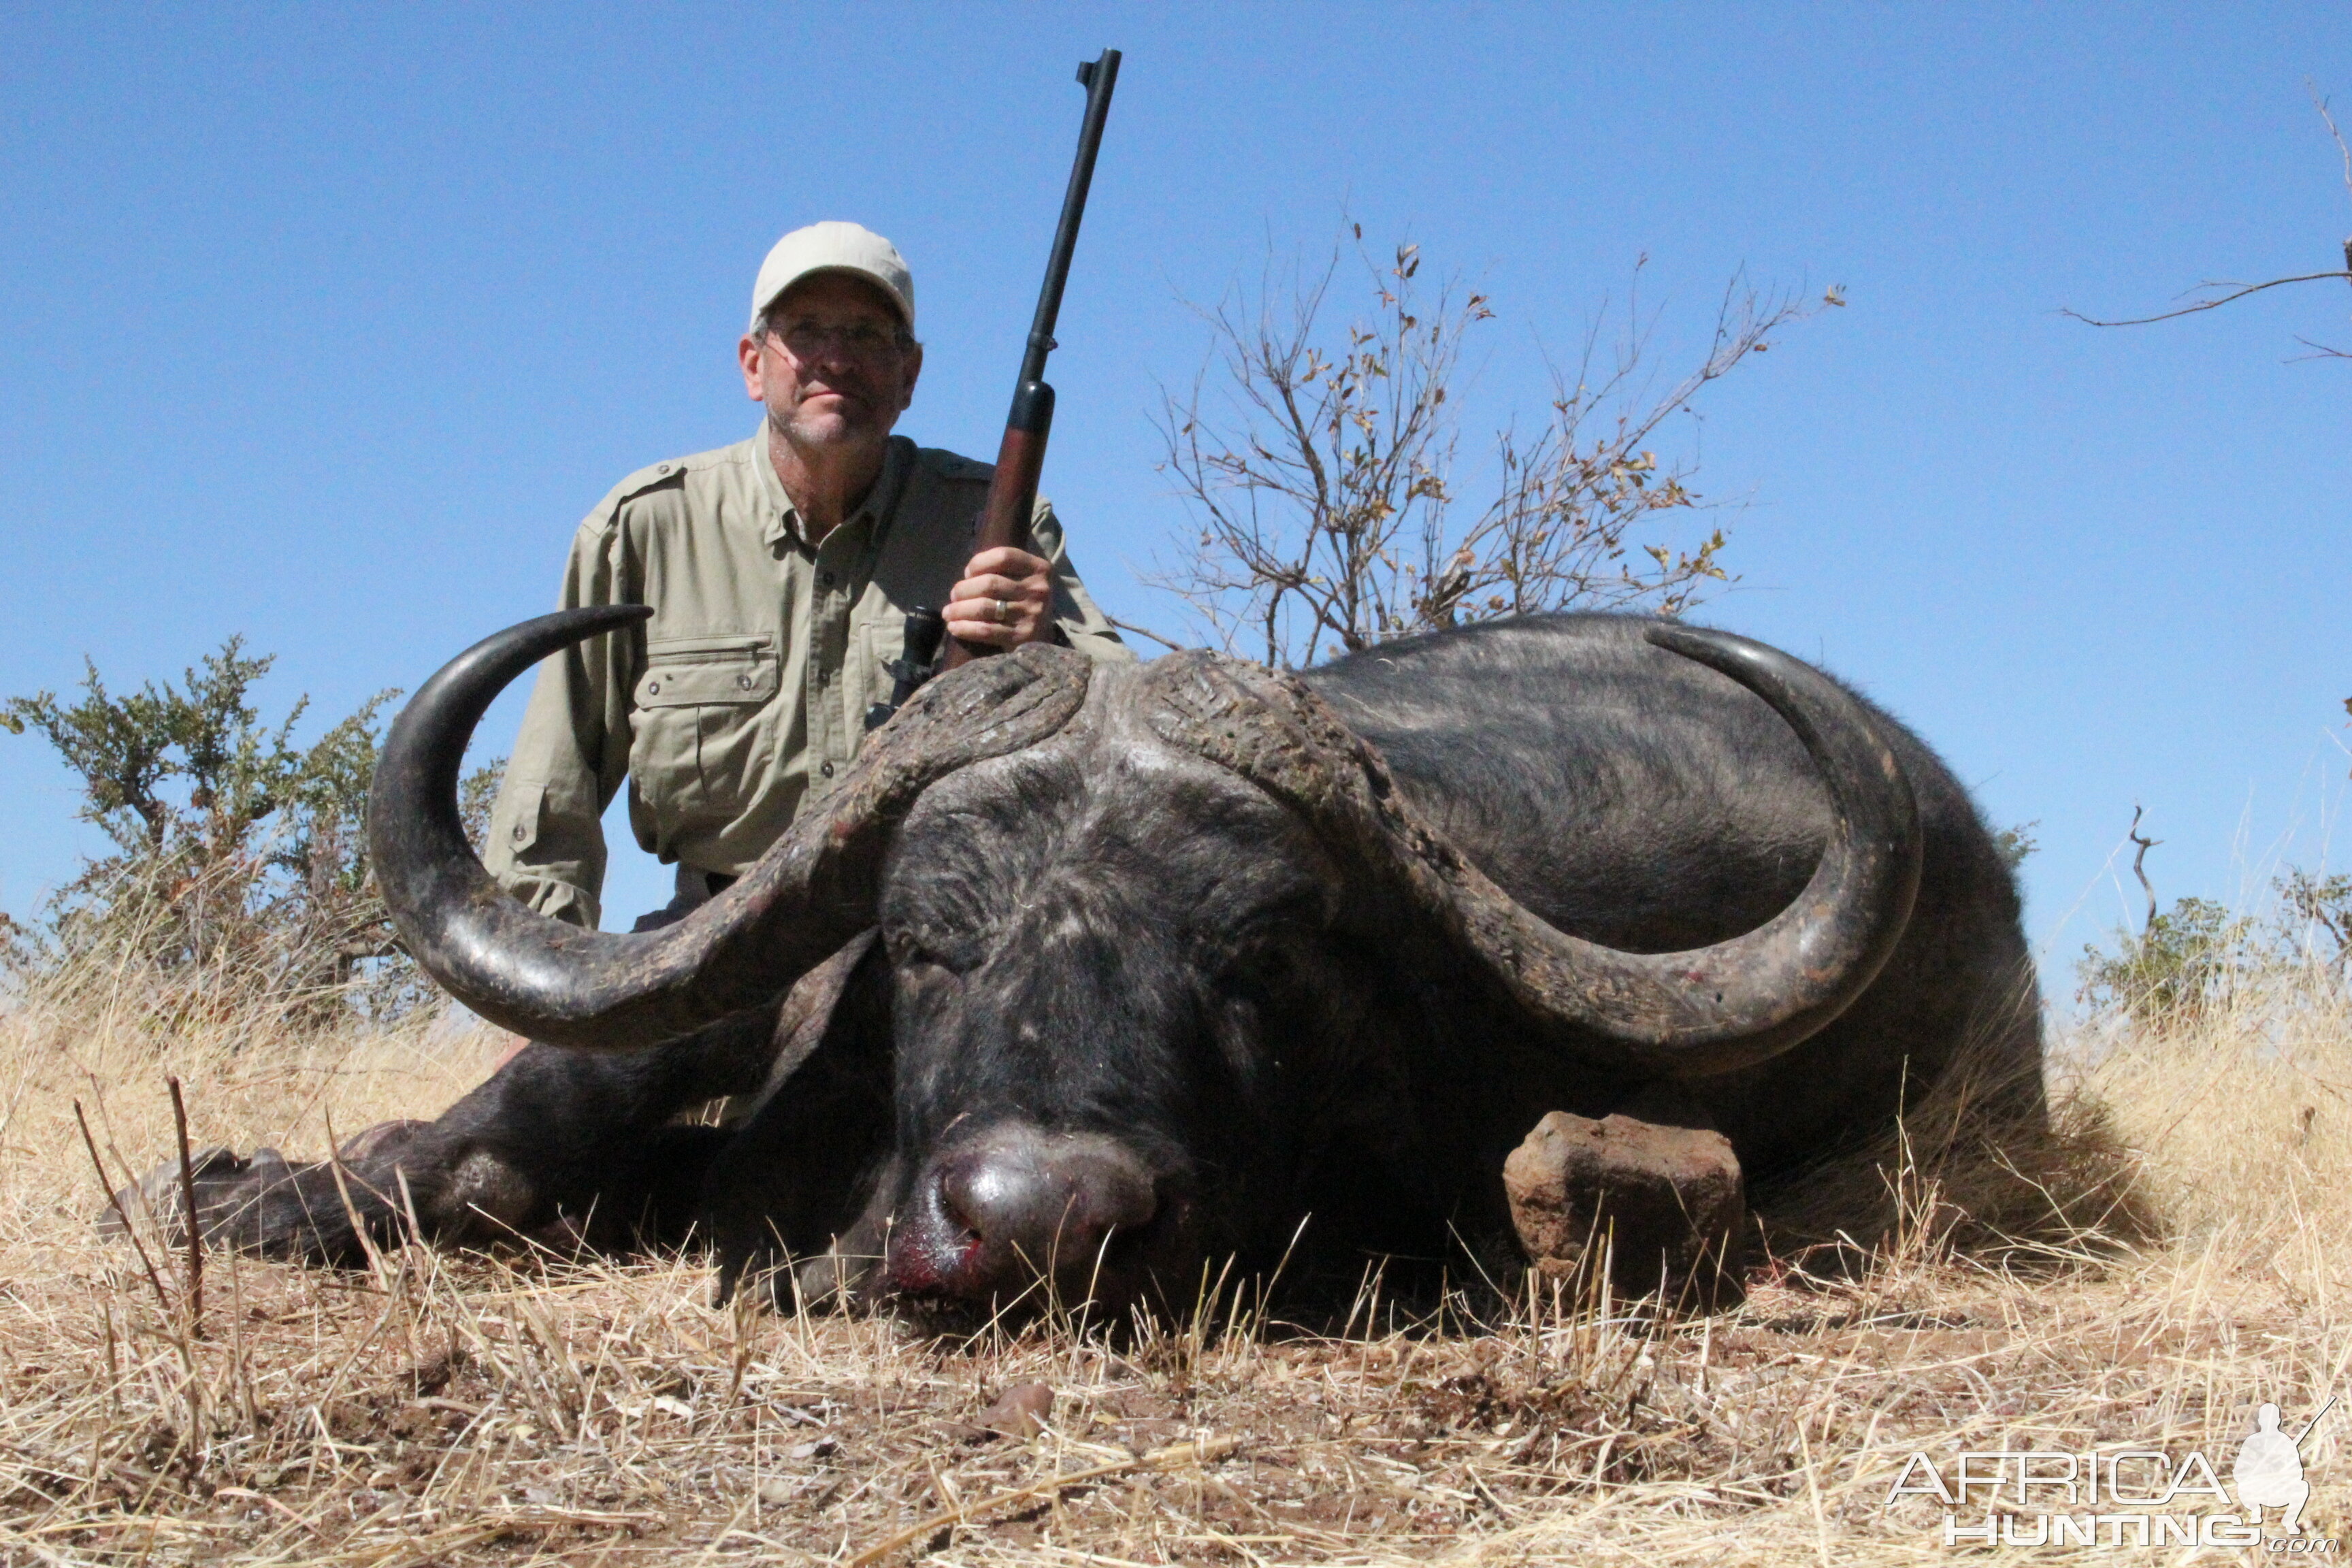
M 727 820 L 757 795 L 774 771 L 781 677 L 767 632 L 644 644 L 628 771 L 656 820 Z

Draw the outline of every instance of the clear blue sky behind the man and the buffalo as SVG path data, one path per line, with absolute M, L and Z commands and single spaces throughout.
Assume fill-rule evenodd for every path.
M 1112 614 L 1183 512 L 1185 299 L 1343 216 L 1486 289 L 1475 418 L 1541 407 L 1646 254 L 1675 364 L 1724 277 L 1851 301 L 1712 388 L 1703 618 L 1858 682 L 1994 823 L 2058 966 L 2133 905 L 2343 865 L 2352 294 L 2343 5 L 5 7 L 0 696 L 226 635 L 325 717 L 553 604 L 633 468 L 753 430 L 734 341 L 786 228 L 915 268 L 901 430 L 995 451 L 1082 94 L 1127 52 L 1051 378 L 1047 491 Z M 2352 113 L 2340 115 L 2352 120 Z M 503 750 L 517 705 L 487 724 Z M 0 910 L 96 849 L 0 736 Z M 663 875 L 616 853 L 609 905 Z

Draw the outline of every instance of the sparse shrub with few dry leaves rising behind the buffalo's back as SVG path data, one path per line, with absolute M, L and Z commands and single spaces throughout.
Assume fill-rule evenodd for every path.
M 1334 327 L 1334 284 L 1362 266 L 1371 310 Z M 1663 541 L 1700 508 L 1693 463 L 1653 451 L 1691 400 L 1764 353 L 1771 334 L 1825 306 L 1724 289 L 1708 355 L 1679 376 L 1653 362 L 1639 296 L 1623 322 L 1595 320 L 1573 374 L 1531 425 L 1505 423 L 1484 503 L 1458 503 L 1463 355 L 1494 320 L 1489 296 L 1421 280 L 1421 252 L 1374 261 L 1362 226 L 1319 273 L 1272 263 L 1256 294 L 1200 315 L 1211 360 L 1162 402 L 1162 470 L 1195 534 L 1150 574 L 1228 651 L 1277 668 L 1416 630 L 1545 609 L 1649 607 L 1679 614 L 1724 581 L 1722 529 Z

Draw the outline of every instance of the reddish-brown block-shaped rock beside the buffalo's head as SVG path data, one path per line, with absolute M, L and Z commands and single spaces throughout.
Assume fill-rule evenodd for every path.
M 1740 1161 L 1722 1133 L 1555 1110 L 1503 1161 L 1510 1222 L 1550 1279 L 1724 1307 L 1740 1298 Z

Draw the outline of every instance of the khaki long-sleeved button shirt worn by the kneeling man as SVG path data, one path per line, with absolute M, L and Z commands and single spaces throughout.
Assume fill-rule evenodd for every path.
M 588 512 L 562 609 L 652 604 L 654 618 L 590 637 L 539 668 L 489 818 L 485 860 L 541 914 L 597 924 L 600 818 L 628 780 L 637 844 L 741 875 L 833 788 L 887 703 L 906 614 L 943 609 L 988 498 L 988 463 L 891 437 L 856 515 L 816 545 L 748 442 L 656 463 Z M 1054 618 L 1070 646 L 1129 661 L 1087 597 L 1037 501 L 1033 548 L 1054 562 Z

